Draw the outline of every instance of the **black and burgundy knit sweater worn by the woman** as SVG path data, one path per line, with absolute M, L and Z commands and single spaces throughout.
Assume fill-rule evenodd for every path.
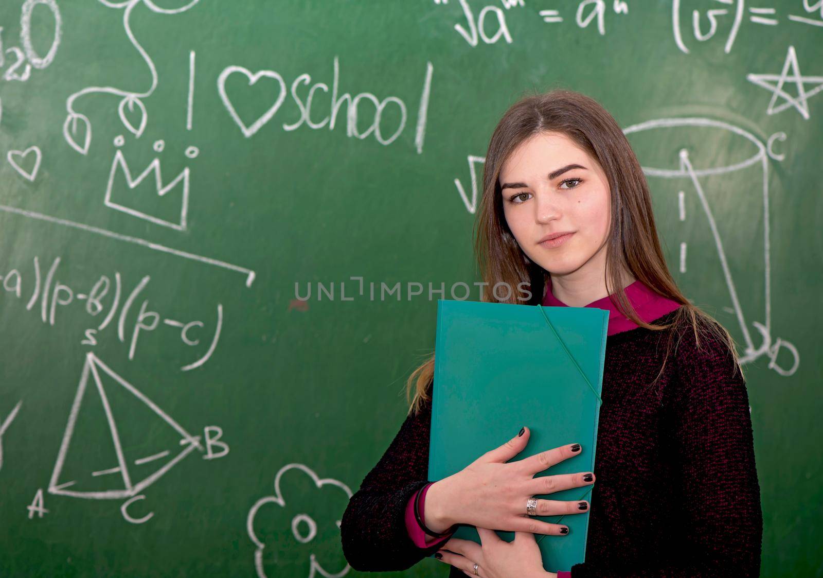
M 763 519 L 746 382 L 725 344 L 701 335 L 699 350 L 687 327 L 677 330 L 677 349 L 649 387 L 672 331 L 607 338 L 586 560 L 572 566 L 572 578 L 760 573 Z M 404 570 L 442 546 L 417 547 L 404 520 L 407 501 L 429 481 L 430 422 L 427 402 L 351 496 L 340 531 L 354 569 Z M 450 578 L 465 576 L 449 569 Z

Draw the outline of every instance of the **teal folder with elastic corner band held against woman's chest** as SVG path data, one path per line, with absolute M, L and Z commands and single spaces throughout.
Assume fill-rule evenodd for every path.
M 576 442 L 583 446 L 577 456 L 534 477 L 593 472 L 608 318 L 607 310 L 593 307 L 439 300 L 429 479 L 457 473 L 523 426 L 531 430 L 528 445 L 509 461 Z M 535 496 L 588 500 L 597 508 L 592 488 Z M 570 529 L 566 535 L 534 534 L 546 571 L 584 562 L 588 518 L 588 510 L 537 516 Z M 514 532 L 497 534 L 514 539 Z M 480 543 L 469 524 L 460 525 L 454 537 Z

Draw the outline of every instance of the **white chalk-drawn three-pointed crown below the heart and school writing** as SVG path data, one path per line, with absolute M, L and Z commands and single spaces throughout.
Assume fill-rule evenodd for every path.
M 156 191 L 156 198 L 157 203 L 160 203 L 160 198 L 165 198 L 166 193 L 170 193 L 170 191 L 174 190 L 178 184 L 182 182 L 183 184 L 183 195 L 182 198 L 179 198 L 178 195 L 172 195 L 170 197 L 170 201 L 166 201 L 166 207 L 168 207 L 168 203 L 174 202 L 179 203 L 179 219 L 177 221 L 167 221 L 160 217 L 156 217 L 154 215 L 150 215 L 146 212 L 138 211 L 135 207 L 128 206 L 128 193 L 118 193 L 117 200 L 119 202 L 115 202 L 113 200 L 113 189 L 114 189 L 114 175 L 117 173 L 118 168 L 123 172 L 123 175 L 126 177 L 126 184 L 128 184 L 128 189 L 135 189 L 137 186 L 142 184 L 146 178 L 154 174 L 154 182 L 155 182 L 155 191 Z M 111 207 L 117 211 L 126 212 L 133 217 L 137 217 L 140 219 L 145 219 L 146 221 L 151 221 L 156 223 L 157 225 L 167 226 L 176 231 L 185 231 L 186 230 L 186 214 L 188 212 L 188 175 L 189 170 L 188 166 L 181 172 L 179 175 L 174 177 L 174 180 L 171 180 L 168 184 L 163 184 L 162 176 L 160 175 L 160 159 L 155 158 L 154 161 L 146 167 L 146 170 L 140 175 L 137 175 L 137 178 L 133 178 L 132 173 L 128 170 L 128 163 L 126 162 L 125 156 L 123 156 L 123 151 L 118 149 L 114 153 L 114 161 L 111 164 L 111 171 L 109 172 L 109 184 L 106 187 L 105 191 L 105 205 L 106 207 Z M 150 187 L 146 187 L 147 189 L 151 189 Z M 144 189 L 146 189 L 144 188 Z M 152 195 L 153 196 L 153 195 Z M 146 205 L 146 199 L 141 198 L 142 201 L 141 205 Z M 158 204 L 158 207 L 161 205 Z M 176 205 L 175 205 L 176 207 Z M 165 207 L 164 207 L 165 208 Z M 176 210 L 175 210 L 176 213 Z

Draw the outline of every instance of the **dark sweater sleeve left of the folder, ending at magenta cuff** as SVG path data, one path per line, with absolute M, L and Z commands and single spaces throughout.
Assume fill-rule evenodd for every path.
M 343 512 L 343 555 L 357 571 L 406 570 L 439 549 L 420 548 L 409 535 L 405 515 L 415 492 L 429 482 L 431 400 L 410 413 L 400 431 L 366 474 Z

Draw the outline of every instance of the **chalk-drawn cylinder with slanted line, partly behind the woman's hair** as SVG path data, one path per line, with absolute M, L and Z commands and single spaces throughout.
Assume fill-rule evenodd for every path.
M 694 274 L 683 274 L 678 285 L 695 305 L 709 305 L 709 313 L 718 319 L 722 311 L 734 315 L 733 324 L 745 343 L 742 362 L 776 357 L 766 143 L 742 128 L 704 118 L 654 119 L 624 133 L 649 181 L 661 240 L 665 246 L 680 247 L 681 256 L 688 241 L 686 270 Z M 686 204 L 677 211 L 681 191 Z M 714 271 L 716 276 L 707 276 Z M 752 283 L 753 275 L 760 281 Z M 728 301 L 717 302 L 723 293 Z M 747 312 L 759 310 L 762 317 L 751 322 L 760 333 L 756 344 L 746 319 Z M 735 333 L 731 324 L 724 325 Z M 797 350 L 786 341 L 776 343 L 795 358 L 796 368 Z

